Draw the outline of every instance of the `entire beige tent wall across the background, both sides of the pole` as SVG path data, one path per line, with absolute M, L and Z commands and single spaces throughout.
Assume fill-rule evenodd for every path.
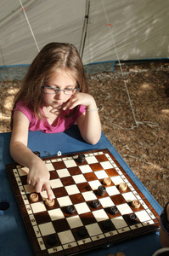
M 39 49 L 71 43 L 84 64 L 169 57 L 168 0 L 21 1 Z M 30 64 L 38 49 L 20 0 L 0 3 L 0 66 Z

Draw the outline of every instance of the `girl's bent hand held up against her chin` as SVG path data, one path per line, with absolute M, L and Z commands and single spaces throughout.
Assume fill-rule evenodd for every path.
M 87 93 L 77 92 L 70 97 L 68 102 L 66 102 L 63 110 L 66 110 L 67 108 L 72 109 L 78 105 L 83 105 L 83 106 L 86 106 L 87 108 L 97 108 L 96 102 L 94 101 L 93 96 Z

